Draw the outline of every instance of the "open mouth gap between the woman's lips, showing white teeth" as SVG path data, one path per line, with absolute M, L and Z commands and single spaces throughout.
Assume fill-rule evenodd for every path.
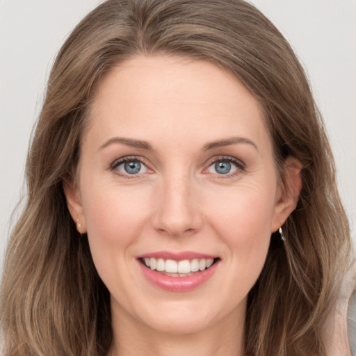
M 162 258 L 140 258 L 139 261 L 151 270 L 156 270 L 163 275 L 170 277 L 188 277 L 209 269 L 213 264 L 220 260 L 215 259 L 184 259 L 175 261 L 174 259 Z

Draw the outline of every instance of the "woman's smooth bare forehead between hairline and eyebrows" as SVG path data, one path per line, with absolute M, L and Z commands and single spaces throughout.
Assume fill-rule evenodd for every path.
M 139 56 L 113 67 L 89 120 L 89 131 L 102 140 L 114 133 L 168 143 L 241 135 L 269 140 L 257 99 L 229 72 L 190 58 Z

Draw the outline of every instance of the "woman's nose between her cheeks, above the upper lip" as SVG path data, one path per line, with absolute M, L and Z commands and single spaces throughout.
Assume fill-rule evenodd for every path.
M 198 232 L 204 218 L 197 190 L 187 177 L 165 181 L 154 197 L 154 229 L 173 237 L 191 236 Z

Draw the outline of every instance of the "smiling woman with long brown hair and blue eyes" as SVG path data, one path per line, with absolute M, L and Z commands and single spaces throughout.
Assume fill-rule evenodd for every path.
M 302 67 L 250 4 L 98 6 L 26 170 L 5 355 L 325 355 L 348 223 Z

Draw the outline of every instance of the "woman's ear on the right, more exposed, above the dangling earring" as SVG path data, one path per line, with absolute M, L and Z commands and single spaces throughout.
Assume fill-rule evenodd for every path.
M 275 210 L 272 219 L 271 232 L 277 231 L 291 212 L 296 209 L 299 193 L 302 189 L 300 171 L 302 163 L 294 157 L 288 157 L 282 167 L 280 182 L 275 196 Z

